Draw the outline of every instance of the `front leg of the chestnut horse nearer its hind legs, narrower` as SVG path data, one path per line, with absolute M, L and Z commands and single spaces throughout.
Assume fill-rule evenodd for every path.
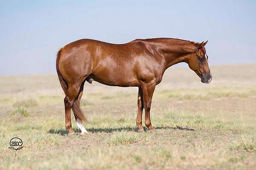
M 139 93 L 138 93 L 138 113 L 137 113 L 137 120 L 136 125 L 138 126 L 138 132 L 145 132 L 142 126 L 142 112 L 143 112 L 143 93 L 142 89 L 139 87 Z

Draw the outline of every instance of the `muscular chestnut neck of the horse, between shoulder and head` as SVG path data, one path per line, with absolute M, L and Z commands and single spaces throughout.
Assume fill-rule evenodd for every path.
M 152 43 L 165 58 L 166 68 L 179 62 L 185 62 L 189 54 L 195 50 L 195 45 L 183 40 L 160 40 Z

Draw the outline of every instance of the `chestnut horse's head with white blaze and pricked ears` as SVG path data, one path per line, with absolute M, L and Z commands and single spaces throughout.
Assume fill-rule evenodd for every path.
M 212 74 L 208 64 L 208 56 L 204 48 L 207 42 L 196 44 L 196 50 L 190 54 L 188 64 L 189 68 L 195 71 L 201 78 L 201 82 L 208 84 L 212 80 Z

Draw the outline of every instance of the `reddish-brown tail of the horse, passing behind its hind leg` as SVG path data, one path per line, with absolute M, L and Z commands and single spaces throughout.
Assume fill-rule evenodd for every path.
M 57 59 L 56 59 L 56 70 L 57 70 L 57 74 L 58 74 L 58 78 L 59 81 L 61 83 L 61 87 L 65 93 L 65 95 L 67 95 L 67 88 L 68 88 L 68 84 L 67 82 L 64 80 L 64 78 L 61 75 L 60 69 L 59 69 L 59 59 L 61 57 L 61 49 L 58 51 L 57 54 Z M 80 102 L 78 101 L 78 99 L 76 98 L 75 101 L 73 102 L 72 105 L 72 111 L 74 113 L 74 115 L 80 119 L 81 121 L 87 122 L 87 119 L 85 118 L 83 112 L 81 111 L 80 108 Z

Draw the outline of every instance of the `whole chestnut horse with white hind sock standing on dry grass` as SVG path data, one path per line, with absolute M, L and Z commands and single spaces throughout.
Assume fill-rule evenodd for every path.
M 111 44 L 97 40 L 82 39 L 65 45 L 58 51 L 56 69 L 65 93 L 65 125 L 74 134 L 71 126 L 71 108 L 81 134 L 87 133 L 82 125 L 86 122 L 80 99 L 84 82 L 120 87 L 138 87 L 138 113 L 136 125 L 142 126 L 142 111 L 145 108 L 145 126 L 154 130 L 150 122 L 151 100 L 155 86 L 162 80 L 164 71 L 179 62 L 186 62 L 201 78 L 201 82 L 212 80 L 208 56 L 204 46 L 172 38 L 134 40 L 126 44 Z

